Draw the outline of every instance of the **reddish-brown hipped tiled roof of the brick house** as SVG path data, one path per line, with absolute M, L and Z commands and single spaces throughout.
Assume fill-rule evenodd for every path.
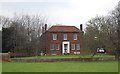
M 52 26 L 48 29 L 49 32 L 80 32 L 75 26 Z

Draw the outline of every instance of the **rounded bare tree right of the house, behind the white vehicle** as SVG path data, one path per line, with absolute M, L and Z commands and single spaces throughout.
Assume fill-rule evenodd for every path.
M 88 21 L 85 32 L 85 43 L 88 49 L 95 52 L 97 48 L 104 47 L 111 54 L 116 49 L 117 24 L 112 16 L 97 16 Z

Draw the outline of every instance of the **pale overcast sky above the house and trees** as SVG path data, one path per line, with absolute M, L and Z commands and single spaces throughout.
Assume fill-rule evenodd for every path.
M 95 16 L 107 15 L 117 6 L 119 0 L 14 0 L 1 1 L 0 15 L 13 17 L 17 14 L 40 14 L 49 25 L 85 24 Z M 84 25 L 85 27 L 85 25 Z

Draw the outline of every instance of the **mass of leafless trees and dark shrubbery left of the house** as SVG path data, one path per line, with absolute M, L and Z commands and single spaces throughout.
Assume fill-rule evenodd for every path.
M 2 24 L 2 52 L 27 52 L 37 54 L 42 27 L 46 18 L 40 15 L 0 16 Z M 23 52 L 22 52 L 23 51 Z M 34 52 L 33 52 L 34 51 Z

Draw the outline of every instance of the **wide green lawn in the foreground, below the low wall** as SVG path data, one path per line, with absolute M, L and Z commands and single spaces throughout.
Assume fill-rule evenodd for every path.
M 3 72 L 118 72 L 118 62 L 3 62 L 2 70 Z

